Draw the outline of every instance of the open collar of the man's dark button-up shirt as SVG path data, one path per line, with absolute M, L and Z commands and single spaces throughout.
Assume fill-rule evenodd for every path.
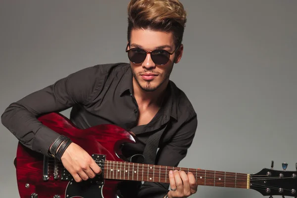
M 126 70 L 122 80 L 121 80 L 121 88 L 119 96 L 122 97 L 125 93 L 129 93 L 129 95 L 133 95 L 133 82 L 132 82 L 132 71 L 131 67 L 128 67 Z M 129 92 L 128 92 L 129 91 Z M 164 116 L 171 116 L 177 120 L 177 96 L 176 96 L 176 85 L 169 81 L 166 92 L 166 96 L 168 96 L 162 104 Z

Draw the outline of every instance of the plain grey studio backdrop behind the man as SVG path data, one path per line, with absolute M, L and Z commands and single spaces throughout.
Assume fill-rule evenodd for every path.
M 182 2 L 185 51 L 171 80 L 191 99 L 198 129 L 180 166 L 256 173 L 274 160 L 295 170 L 297 0 Z M 127 3 L 1 0 L 0 112 L 79 69 L 127 62 Z M 2 125 L 0 135 L 0 197 L 17 198 L 17 140 Z M 192 197 L 262 196 L 200 186 Z

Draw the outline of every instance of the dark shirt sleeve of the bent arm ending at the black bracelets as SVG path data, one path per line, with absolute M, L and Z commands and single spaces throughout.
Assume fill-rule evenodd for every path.
M 87 102 L 96 86 L 95 67 L 88 67 L 11 103 L 1 115 L 2 124 L 27 148 L 49 156 L 58 133 L 43 125 L 38 116 L 59 112 Z

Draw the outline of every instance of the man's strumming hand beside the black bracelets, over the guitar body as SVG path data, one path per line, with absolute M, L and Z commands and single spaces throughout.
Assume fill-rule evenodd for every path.
M 94 178 L 101 172 L 100 167 L 89 153 L 75 143 L 68 146 L 61 161 L 76 182 Z

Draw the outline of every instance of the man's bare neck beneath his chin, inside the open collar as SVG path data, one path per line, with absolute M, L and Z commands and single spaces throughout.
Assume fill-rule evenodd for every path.
M 162 98 L 164 98 L 164 93 L 166 87 L 168 85 L 169 80 L 166 80 L 158 89 L 152 92 L 144 91 L 139 84 L 136 82 L 135 78 L 133 78 L 133 89 L 134 89 L 134 97 L 138 102 L 150 104 L 160 105 Z

